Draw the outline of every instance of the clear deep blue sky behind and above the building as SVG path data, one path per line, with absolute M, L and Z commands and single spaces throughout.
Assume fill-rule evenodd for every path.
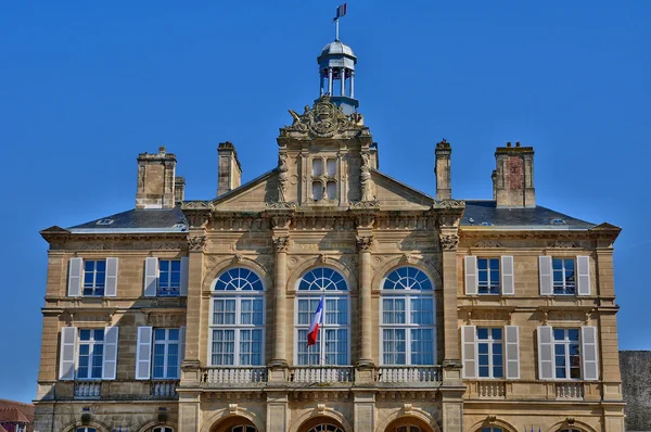
M 3 275 L 0 397 L 36 394 L 47 243 L 135 204 L 136 157 L 176 153 L 188 199 L 214 198 L 216 147 L 243 179 L 276 165 L 278 128 L 318 96 L 337 1 L 4 2 L 0 7 Z M 490 198 L 496 145 L 534 145 L 537 202 L 624 228 L 620 343 L 651 350 L 647 189 L 651 2 L 348 1 L 341 39 L 386 174 Z

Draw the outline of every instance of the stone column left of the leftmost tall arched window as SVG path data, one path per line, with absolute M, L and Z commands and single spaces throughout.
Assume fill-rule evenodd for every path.
M 206 246 L 206 237 L 199 232 L 191 232 L 188 241 L 188 300 L 186 316 L 186 357 L 181 364 L 181 386 L 197 385 L 201 380 L 201 319 L 202 298 L 201 283 L 203 280 L 203 255 Z

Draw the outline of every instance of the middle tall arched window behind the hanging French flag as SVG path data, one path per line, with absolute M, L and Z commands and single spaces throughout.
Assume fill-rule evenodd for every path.
M 307 333 L 321 297 L 323 319 L 317 343 L 307 346 Z M 337 270 L 319 267 L 303 275 L 296 292 L 296 365 L 349 365 L 348 304 L 348 284 Z

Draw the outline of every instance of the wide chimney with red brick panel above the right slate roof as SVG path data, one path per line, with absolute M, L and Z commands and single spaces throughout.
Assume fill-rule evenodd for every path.
M 534 148 L 498 147 L 495 151 L 497 168 L 493 171 L 493 198 L 498 207 L 535 207 Z

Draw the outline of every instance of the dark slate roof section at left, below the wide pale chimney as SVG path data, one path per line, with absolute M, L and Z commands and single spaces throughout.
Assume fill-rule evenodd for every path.
M 186 232 L 188 219 L 180 208 L 135 208 L 68 228 L 87 232 Z

